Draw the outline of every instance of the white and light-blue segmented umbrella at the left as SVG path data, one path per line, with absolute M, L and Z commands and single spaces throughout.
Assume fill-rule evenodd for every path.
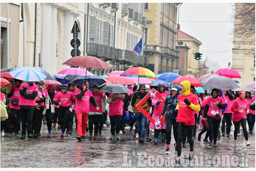
M 13 78 L 23 81 L 42 81 L 47 77 L 42 70 L 30 66 L 15 68 L 9 73 Z

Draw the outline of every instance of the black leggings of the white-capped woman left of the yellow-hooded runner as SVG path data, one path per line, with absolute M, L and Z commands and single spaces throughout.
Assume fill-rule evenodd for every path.
M 165 116 L 165 124 L 166 124 L 166 144 L 171 143 L 171 133 L 172 133 L 172 126 L 173 126 L 173 136 L 175 139 L 175 142 L 177 143 L 178 138 L 178 129 L 176 124 L 177 119 L 172 119 L 168 115 Z

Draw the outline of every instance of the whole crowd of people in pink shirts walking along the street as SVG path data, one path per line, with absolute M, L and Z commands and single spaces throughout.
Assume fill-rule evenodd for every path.
M 173 129 L 176 163 L 182 163 L 181 148 L 186 147 L 186 141 L 190 146 L 189 160 L 194 158 L 194 141 L 198 126 L 201 131 L 197 140 L 201 142 L 202 134 L 206 133 L 203 142 L 217 147 L 217 141 L 221 140 L 221 136 L 226 134 L 230 137 L 233 121 L 234 146 L 238 146 L 239 143 L 237 135 L 241 134 L 240 127 L 244 132 L 246 145 L 250 146 L 246 122 L 250 134 L 255 123 L 255 97 L 251 96 L 251 92 L 214 88 L 209 94 L 207 91 L 196 93 L 195 87 L 189 81 L 183 81 L 180 85 L 175 83 L 168 91 L 164 82 L 160 82 L 158 87 L 154 88 L 162 98 L 159 99 L 159 96 L 152 93 L 141 105 L 154 121 L 164 119 L 165 123 L 156 128 L 155 123 L 150 122 L 149 117 L 136 107 L 153 87 L 148 84 L 130 84 L 127 87 L 131 90 L 128 93 L 112 94 L 99 90 L 97 84 L 89 87 L 87 81 L 83 81 L 78 88 L 73 82 L 57 88 L 49 84 L 46 88 L 44 81 L 22 83 L 21 80 L 15 79 L 7 94 L 11 99 L 9 134 L 19 135 L 21 127 L 20 139 L 26 138 L 26 130 L 27 138 L 37 138 L 41 135 L 44 117 L 48 133 L 52 134 L 52 128 L 58 124 L 61 138 L 65 137 L 65 133 L 72 134 L 75 123 L 78 141 L 85 139 L 85 133 L 88 131 L 88 138 L 97 139 L 98 135 L 102 134 L 104 124 L 110 126 L 110 140 L 119 140 L 120 134 L 126 132 L 125 126 L 129 126 L 127 133 L 133 133 L 131 140 L 138 136 L 139 143 L 152 141 L 149 135 L 151 129 L 154 132 L 153 143 L 166 143 L 165 154 L 170 154 Z M 1 101 L 6 103 L 2 92 Z M 1 118 L 2 136 L 4 120 L 5 118 Z

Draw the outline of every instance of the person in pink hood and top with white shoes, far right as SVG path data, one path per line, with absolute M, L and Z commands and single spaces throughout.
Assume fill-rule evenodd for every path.
M 233 105 L 231 107 L 231 111 L 233 111 L 232 121 L 235 127 L 234 130 L 234 145 L 238 146 L 237 144 L 237 132 L 240 128 L 240 124 L 244 131 L 244 138 L 246 139 L 246 145 L 250 146 L 250 142 L 248 141 L 248 132 L 246 128 L 246 115 L 249 113 L 249 108 L 247 104 L 246 92 L 241 90 L 239 92 L 239 97 L 234 100 Z

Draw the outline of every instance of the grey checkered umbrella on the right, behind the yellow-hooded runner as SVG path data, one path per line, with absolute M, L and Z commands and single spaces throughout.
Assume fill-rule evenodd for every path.
M 207 78 L 204 78 L 199 82 L 199 84 L 202 84 L 206 87 L 213 87 L 216 89 L 235 89 L 239 88 L 237 83 L 235 83 L 234 80 L 231 78 L 227 78 L 225 76 L 210 76 Z

